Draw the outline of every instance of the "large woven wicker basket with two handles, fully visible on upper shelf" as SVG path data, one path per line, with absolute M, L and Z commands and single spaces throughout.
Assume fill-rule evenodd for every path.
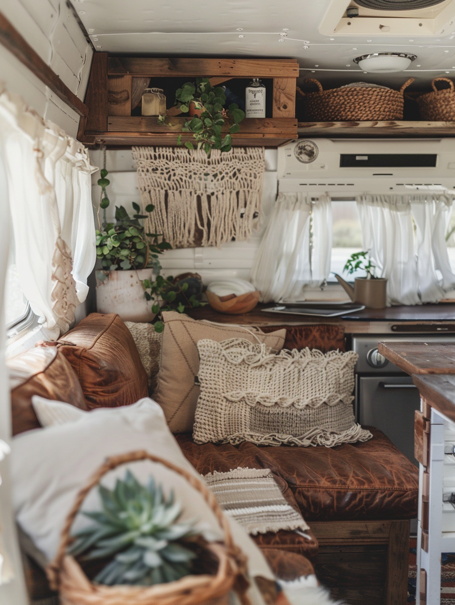
M 366 122 L 403 119 L 403 92 L 414 81 L 408 79 L 400 90 L 376 87 L 346 87 L 323 90 L 313 78 L 305 82 L 317 85 L 318 93 L 302 93 L 303 115 L 307 122 Z

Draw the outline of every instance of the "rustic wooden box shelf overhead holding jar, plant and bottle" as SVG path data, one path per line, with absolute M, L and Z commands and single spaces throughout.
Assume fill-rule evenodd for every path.
M 193 140 L 181 133 L 188 117 L 169 108 L 165 124 L 157 117 L 132 116 L 150 78 L 209 77 L 212 85 L 231 79 L 263 77 L 273 79 L 272 116 L 245 119 L 233 134 L 234 146 L 278 146 L 297 138 L 295 119 L 295 59 L 163 59 L 152 57 L 109 57 L 95 53 L 86 93 L 88 116 L 80 120 L 79 139 L 86 145 L 106 146 L 177 145 Z M 226 129 L 228 132 L 228 128 Z

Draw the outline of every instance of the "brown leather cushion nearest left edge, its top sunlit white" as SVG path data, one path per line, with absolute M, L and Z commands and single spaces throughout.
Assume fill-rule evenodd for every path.
M 40 395 L 88 410 L 76 373 L 57 347 L 34 347 L 7 360 L 13 435 L 40 428 L 31 397 Z

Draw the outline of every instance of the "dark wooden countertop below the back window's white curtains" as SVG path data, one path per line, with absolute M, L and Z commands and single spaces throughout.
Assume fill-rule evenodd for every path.
M 262 309 L 272 307 L 273 303 L 258 304 L 249 313 L 243 315 L 226 315 L 218 313 L 210 306 L 189 309 L 187 315 L 194 319 L 208 319 L 220 324 L 240 325 L 303 325 L 303 324 L 341 324 L 344 332 L 361 333 L 406 333 L 412 330 L 413 324 L 439 324 L 444 322 L 447 331 L 454 332 L 455 339 L 455 304 L 429 304 L 419 306 L 397 306 L 386 309 L 364 309 L 358 313 L 349 313 L 338 317 L 316 317 L 310 315 L 291 315 L 291 313 L 266 313 Z M 437 330 L 428 332 L 437 333 Z

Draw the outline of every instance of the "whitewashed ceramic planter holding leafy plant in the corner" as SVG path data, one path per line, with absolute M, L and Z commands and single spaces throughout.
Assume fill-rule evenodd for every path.
M 146 301 L 141 280 L 152 280 L 153 269 L 96 271 L 98 313 L 118 313 L 123 321 L 152 321 L 152 301 Z

